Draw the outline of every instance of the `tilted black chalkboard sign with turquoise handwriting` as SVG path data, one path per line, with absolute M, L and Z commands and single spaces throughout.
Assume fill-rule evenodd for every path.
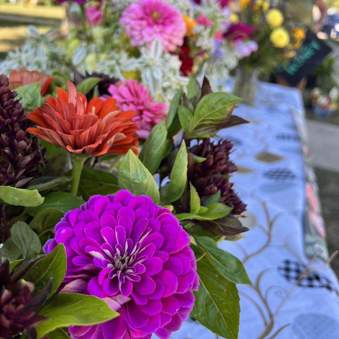
M 311 31 L 306 32 L 306 38 L 296 55 L 285 66 L 277 69 L 279 76 L 291 86 L 296 86 L 303 77 L 307 77 L 319 62 L 332 51 L 324 41 Z

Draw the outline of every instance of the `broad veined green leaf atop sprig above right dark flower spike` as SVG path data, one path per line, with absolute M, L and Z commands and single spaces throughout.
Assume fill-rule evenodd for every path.
M 198 102 L 187 134 L 197 135 L 206 126 L 218 125 L 228 118 L 241 99 L 224 92 L 210 93 Z

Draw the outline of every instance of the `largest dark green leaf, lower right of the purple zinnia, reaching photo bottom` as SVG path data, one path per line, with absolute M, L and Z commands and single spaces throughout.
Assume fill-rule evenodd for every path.
M 191 247 L 198 256 L 199 289 L 193 292 L 195 303 L 191 316 L 222 338 L 236 339 L 239 332 L 239 295 L 236 284 L 226 279 L 210 256 L 202 249 Z

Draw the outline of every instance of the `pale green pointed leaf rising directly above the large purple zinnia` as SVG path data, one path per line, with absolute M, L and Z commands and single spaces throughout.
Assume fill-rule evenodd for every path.
M 157 204 L 160 199 L 157 184 L 148 169 L 131 149 L 122 158 L 118 170 L 118 184 L 136 196 L 147 195 Z

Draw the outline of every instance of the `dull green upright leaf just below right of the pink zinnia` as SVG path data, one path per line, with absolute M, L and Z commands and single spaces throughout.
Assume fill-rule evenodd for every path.
M 144 145 L 142 146 L 139 159 L 151 174 L 154 174 L 163 158 L 166 148 L 167 129 L 165 122 L 156 124 Z

